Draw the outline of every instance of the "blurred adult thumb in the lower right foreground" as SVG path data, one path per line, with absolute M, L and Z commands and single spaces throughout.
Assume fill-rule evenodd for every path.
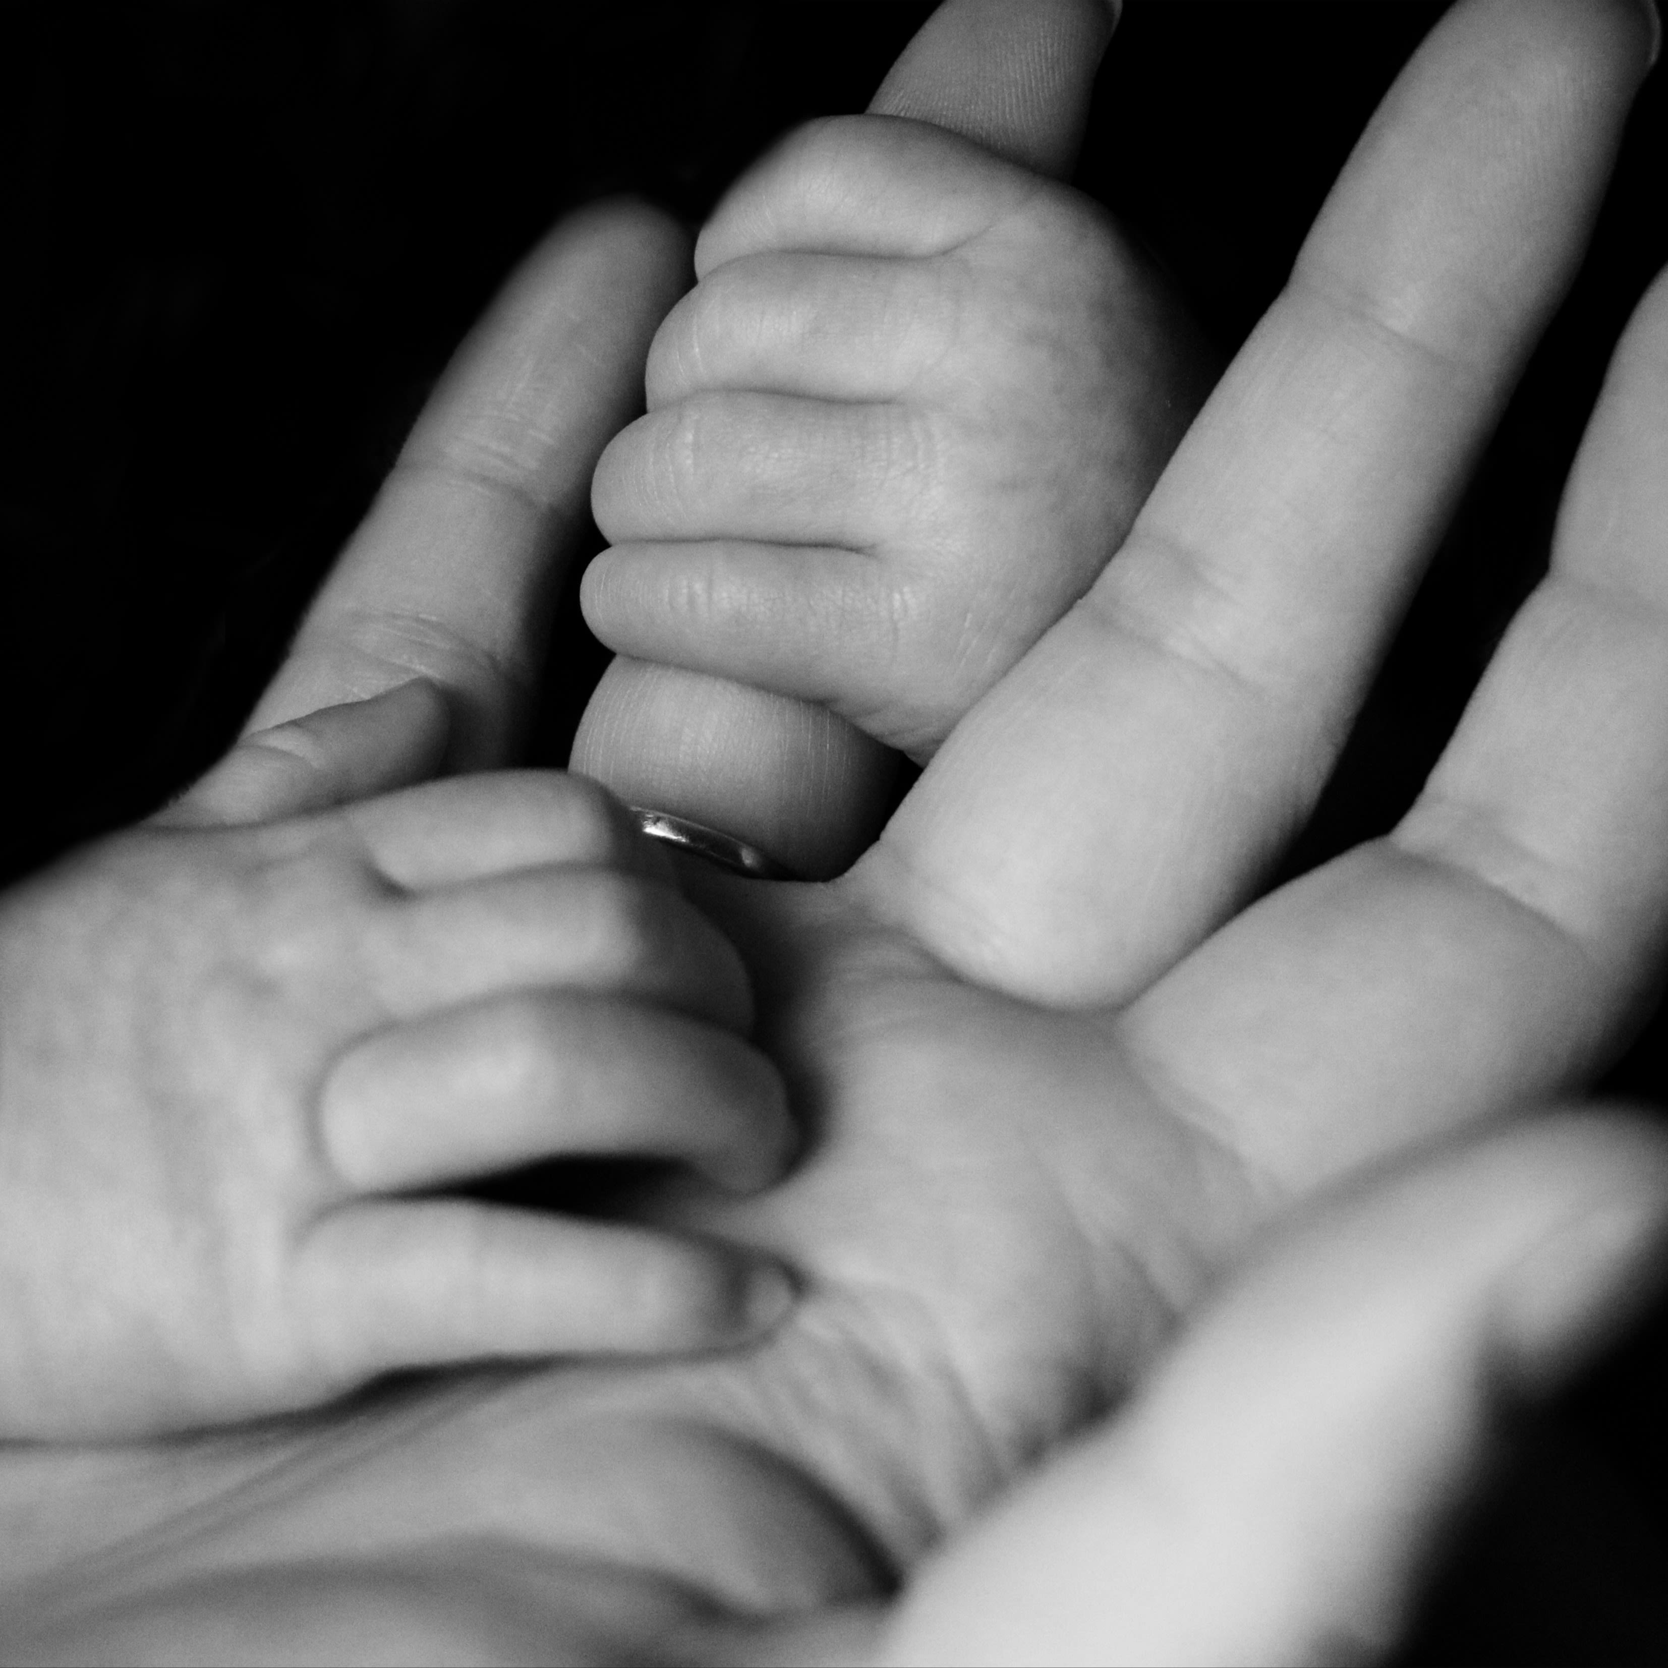
M 1546 1119 L 1331 1201 L 912 1583 L 892 1663 L 1376 1661 L 1501 1413 L 1663 1276 L 1668 1144 Z

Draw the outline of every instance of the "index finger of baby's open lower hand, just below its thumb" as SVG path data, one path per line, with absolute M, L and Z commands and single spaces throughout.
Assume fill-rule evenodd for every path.
M 377 867 L 412 889 L 562 862 L 672 881 L 631 812 L 567 771 L 447 777 L 367 799 L 345 816 Z

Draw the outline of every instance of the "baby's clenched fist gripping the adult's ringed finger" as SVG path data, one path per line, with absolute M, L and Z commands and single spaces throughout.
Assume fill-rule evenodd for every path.
M 597 467 L 585 617 L 926 761 L 1118 549 L 1206 355 L 1093 203 L 919 122 L 797 132 L 696 272 Z

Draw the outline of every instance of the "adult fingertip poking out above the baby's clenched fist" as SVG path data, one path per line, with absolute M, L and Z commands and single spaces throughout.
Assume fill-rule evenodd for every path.
M 944 0 L 881 82 L 869 113 L 931 122 L 1064 178 L 1116 22 L 1118 0 Z

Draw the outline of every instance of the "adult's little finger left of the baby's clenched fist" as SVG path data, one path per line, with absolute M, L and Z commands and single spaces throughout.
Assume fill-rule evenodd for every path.
M 682 232 L 647 207 L 557 227 L 459 352 L 252 729 L 422 676 L 454 711 L 450 764 L 505 759 L 592 469 L 686 277 Z

